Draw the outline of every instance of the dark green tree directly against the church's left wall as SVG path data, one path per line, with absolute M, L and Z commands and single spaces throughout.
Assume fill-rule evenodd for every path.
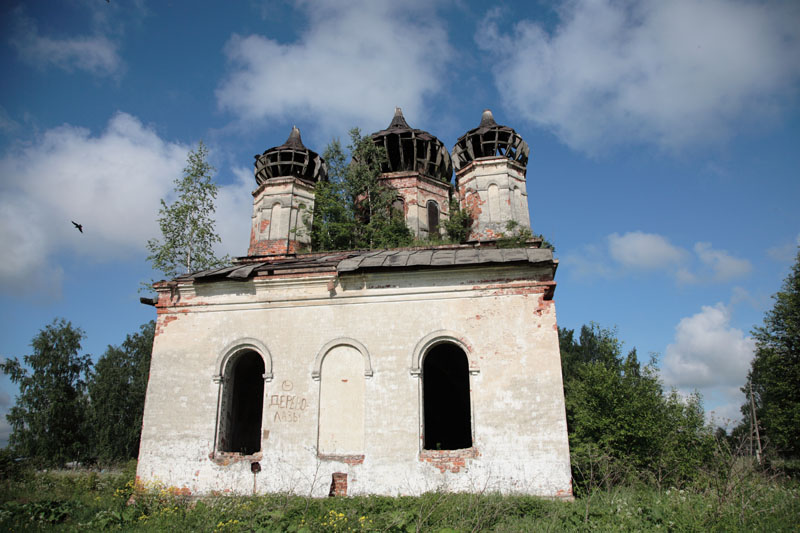
M 155 322 L 128 335 L 122 346 L 109 346 L 97 361 L 89 381 L 95 454 L 100 461 L 133 459 L 139 455 L 142 413 Z

